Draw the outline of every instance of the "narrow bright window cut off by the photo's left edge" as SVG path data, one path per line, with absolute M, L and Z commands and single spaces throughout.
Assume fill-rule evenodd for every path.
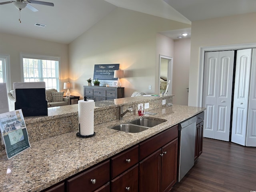
M 10 56 L 0 54 L 0 83 L 6 83 L 7 88 L 8 82 L 10 82 Z

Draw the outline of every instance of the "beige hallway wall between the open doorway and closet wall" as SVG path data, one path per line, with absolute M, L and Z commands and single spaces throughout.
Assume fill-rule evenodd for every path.
M 173 57 L 173 104 L 188 105 L 188 82 L 190 66 L 190 38 L 174 40 Z

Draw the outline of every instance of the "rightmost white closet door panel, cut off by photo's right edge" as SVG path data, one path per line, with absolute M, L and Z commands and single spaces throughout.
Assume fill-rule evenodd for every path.
M 252 51 L 246 146 L 256 147 L 256 49 Z

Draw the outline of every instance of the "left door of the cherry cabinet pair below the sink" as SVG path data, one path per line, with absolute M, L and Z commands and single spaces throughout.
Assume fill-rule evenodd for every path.
M 139 164 L 139 188 L 140 192 L 159 192 L 161 181 L 161 153 L 157 150 L 152 155 L 142 160 Z

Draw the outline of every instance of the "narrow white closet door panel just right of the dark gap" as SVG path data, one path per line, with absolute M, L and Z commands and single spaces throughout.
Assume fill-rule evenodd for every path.
M 252 49 L 238 50 L 231 141 L 245 146 Z

